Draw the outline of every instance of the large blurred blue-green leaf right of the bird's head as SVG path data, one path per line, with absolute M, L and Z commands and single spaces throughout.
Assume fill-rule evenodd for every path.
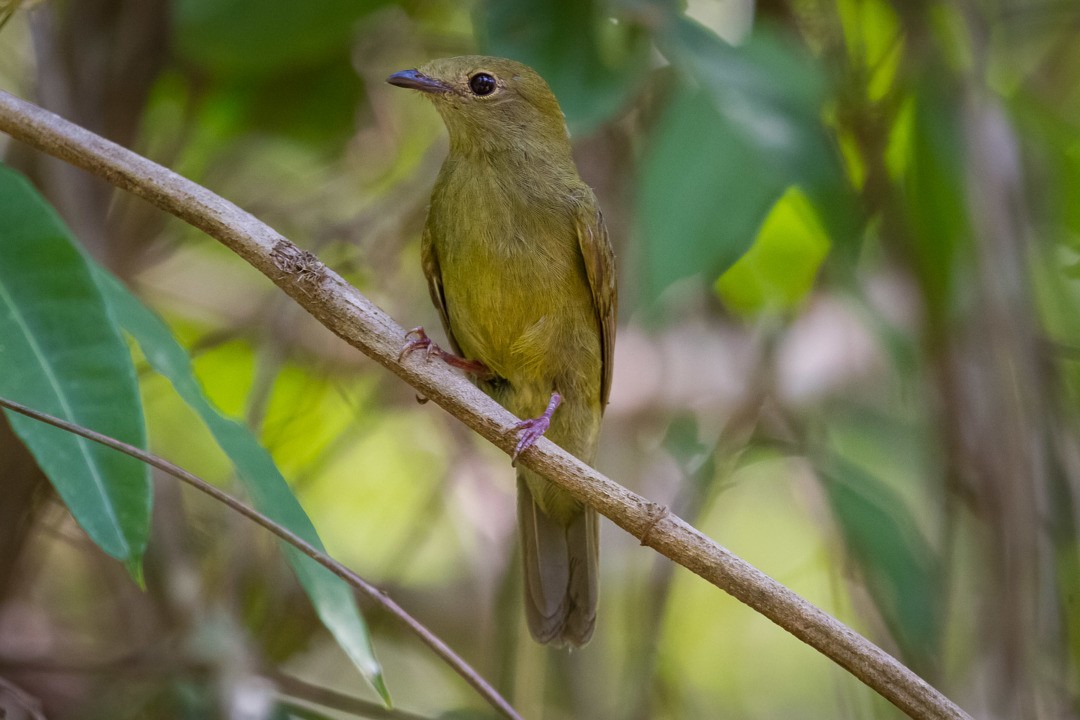
M 852 244 L 859 214 L 822 121 L 818 64 L 767 31 L 732 47 L 681 15 L 660 26 L 657 43 L 688 84 L 642 160 L 647 298 L 683 277 L 724 273 L 793 184 L 820 208 L 834 242 Z

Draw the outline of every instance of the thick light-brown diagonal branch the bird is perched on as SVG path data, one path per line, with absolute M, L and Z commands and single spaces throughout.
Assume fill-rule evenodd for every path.
M 0 92 L 0 131 L 98 175 L 215 237 L 323 325 L 434 400 L 504 452 L 517 422 L 443 363 L 397 354 L 404 330 L 337 273 L 248 213 L 130 150 Z M 907 667 L 701 532 L 585 465 L 548 439 L 518 462 L 592 505 L 643 545 L 748 604 L 825 654 L 912 718 L 969 716 Z

